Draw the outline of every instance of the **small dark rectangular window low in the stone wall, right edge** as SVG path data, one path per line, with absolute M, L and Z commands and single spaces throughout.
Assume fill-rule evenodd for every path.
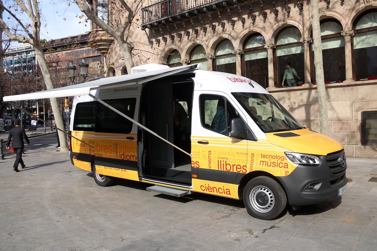
M 377 145 L 377 112 L 361 114 L 361 144 Z

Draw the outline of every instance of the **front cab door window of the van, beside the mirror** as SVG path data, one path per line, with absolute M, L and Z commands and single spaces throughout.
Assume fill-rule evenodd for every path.
M 212 131 L 228 135 L 230 120 L 239 118 L 238 112 L 225 97 L 201 95 L 200 105 L 202 126 Z

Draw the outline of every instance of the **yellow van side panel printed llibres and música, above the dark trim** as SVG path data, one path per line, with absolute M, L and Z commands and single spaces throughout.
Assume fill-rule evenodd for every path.
M 274 176 L 288 176 L 297 167 L 285 156 L 287 148 L 272 145 L 267 140 L 197 136 L 191 139 L 192 167 L 238 173 L 264 171 Z M 209 144 L 197 143 L 204 140 L 209 141 Z

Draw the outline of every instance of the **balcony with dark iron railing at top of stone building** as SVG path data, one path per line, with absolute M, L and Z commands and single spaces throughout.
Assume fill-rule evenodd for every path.
M 142 8 L 141 26 L 153 29 L 167 21 L 174 23 L 244 2 L 250 3 L 251 0 L 162 0 Z

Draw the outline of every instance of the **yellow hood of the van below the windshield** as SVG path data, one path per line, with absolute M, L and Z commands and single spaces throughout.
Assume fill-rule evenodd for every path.
M 290 149 L 290 151 L 314 154 L 327 155 L 331 152 L 337 152 L 343 149 L 343 145 L 318 132 L 310 131 L 309 129 L 301 129 L 289 131 L 300 136 L 296 137 L 280 137 L 276 134 L 286 132 L 269 132 L 266 133 L 267 140 L 271 144 Z

